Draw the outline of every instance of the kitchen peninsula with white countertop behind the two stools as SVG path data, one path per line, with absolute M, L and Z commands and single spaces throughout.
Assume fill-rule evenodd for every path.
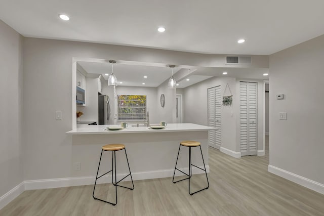
M 94 176 L 98 165 L 101 147 L 109 143 L 121 143 L 126 146 L 132 176 L 134 180 L 172 177 L 176 163 L 179 143 L 194 140 L 201 143 L 207 171 L 208 131 L 214 127 L 193 123 L 170 123 L 164 129 L 150 129 L 147 126 L 131 126 L 118 131 L 106 131 L 108 125 L 78 125 L 67 132 L 72 135 L 72 148 L 77 151 L 74 161 L 86 161 L 84 176 Z M 123 154 L 120 154 L 123 155 Z M 181 147 L 179 167 L 188 169 L 188 148 Z M 108 170 L 111 167 L 111 154 L 105 156 Z M 89 159 L 87 159 L 89 158 Z M 117 156 L 117 164 L 125 164 L 124 157 Z M 192 149 L 192 163 L 203 167 L 199 148 Z M 117 167 L 119 173 L 127 172 L 126 166 Z M 200 172 L 192 169 L 193 174 Z M 79 173 L 75 172 L 75 176 Z M 109 178 L 110 179 L 110 178 Z M 107 180 L 109 181 L 109 180 Z

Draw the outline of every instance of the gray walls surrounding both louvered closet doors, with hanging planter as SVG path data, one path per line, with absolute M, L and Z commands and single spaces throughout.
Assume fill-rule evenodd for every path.
M 221 96 L 229 95 L 226 90 L 228 83 L 233 95 L 232 106 L 221 107 L 222 121 L 222 147 L 240 152 L 239 148 L 239 81 L 258 82 L 258 151 L 263 150 L 263 81 L 254 79 L 239 79 L 233 77 L 212 77 L 204 81 L 198 82 L 183 90 L 184 103 L 183 113 L 184 122 L 192 122 L 196 124 L 207 125 L 207 90 L 217 85 L 221 85 Z M 194 104 L 194 105 L 193 105 Z M 231 117 L 233 114 L 233 117 Z

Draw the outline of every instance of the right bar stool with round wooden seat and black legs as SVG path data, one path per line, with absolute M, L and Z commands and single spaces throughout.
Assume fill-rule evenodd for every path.
M 177 168 L 177 163 L 178 163 L 178 158 L 179 158 L 179 153 L 180 153 L 180 148 L 181 148 L 181 146 L 189 147 L 189 174 L 186 174 L 185 172 L 183 172 L 183 171 L 181 171 L 180 169 Z M 193 165 L 193 164 L 191 163 L 191 147 L 197 147 L 197 146 L 199 146 L 199 148 L 200 148 L 201 158 L 203 158 L 203 163 L 204 163 L 204 168 L 205 168 L 205 169 L 200 168 L 200 167 L 198 167 L 198 166 L 196 166 L 196 165 Z M 192 169 L 192 168 L 191 168 L 191 166 L 197 167 L 197 168 L 199 168 L 199 169 L 205 171 L 206 179 L 207 179 L 207 184 L 208 184 L 208 186 L 207 186 L 206 188 L 203 188 L 203 189 L 198 190 L 198 191 L 193 192 L 193 193 L 190 193 L 190 179 L 191 179 L 191 176 L 192 176 L 192 173 L 191 173 L 191 171 L 192 171 L 191 169 Z M 176 182 L 175 182 L 175 181 L 174 181 L 174 176 L 175 176 L 175 174 L 176 174 L 176 170 L 181 171 L 181 172 L 182 172 L 184 175 L 186 175 L 188 178 L 185 178 L 185 179 L 182 179 L 182 180 L 179 180 L 179 181 L 176 181 Z M 209 188 L 209 181 L 208 181 L 208 177 L 207 177 L 207 171 L 206 171 L 206 166 L 205 166 L 205 161 L 204 161 L 203 151 L 201 151 L 200 143 L 199 143 L 199 142 L 196 142 L 196 141 L 181 141 L 181 142 L 180 142 L 179 151 L 178 151 L 178 156 L 177 156 L 177 162 L 176 162 L 176 167 L 174 168 L 174 174 L 173 174 L 172 182 L 173 182 L 173 183 L 177 183 L 177 182 L 180 182 L 180 181 L 183 181 L 183 180 L 186 180 L 186 179 L 189 180 L 189 189 L 188 189 L 188 192 L 189 192 L 190 195 L 193 195 L 193 194 L 195 194 L 195 193 L 198 193 L 199 191 L 202 191 L 202 190 L 205 190 L 205 189 L 208 189 L 208 188 Z

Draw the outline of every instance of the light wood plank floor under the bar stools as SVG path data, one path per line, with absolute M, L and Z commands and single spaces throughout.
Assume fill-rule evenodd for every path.
M 116 206 L 94 200 L 92 185 L 32 190 L 0 215 L 324 215 L 324 195 L 270 174 L 268 154 L 233 158 L 210 148 L 209 155 L 210 188 L 193 196 L 187 181 L 173 184 L 172 178 L 135 181 L 133 191 L 118 188 Z M 203 177 L 195 175 L 192 187 L 206 186 Z M 101 198 L 112 192 L 98 187 Z

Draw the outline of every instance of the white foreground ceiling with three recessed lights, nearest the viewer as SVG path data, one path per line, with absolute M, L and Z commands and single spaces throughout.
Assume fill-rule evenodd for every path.
M 323 0 L 0 0 L 24 36 L 177 51 L 269 55 L 324 34 Z M 59 13 L 70 16 L 62 21 Z M 166 27 L 159 33 L 157 27 Z M 245 38 L 244 44 L 237 39 Z

